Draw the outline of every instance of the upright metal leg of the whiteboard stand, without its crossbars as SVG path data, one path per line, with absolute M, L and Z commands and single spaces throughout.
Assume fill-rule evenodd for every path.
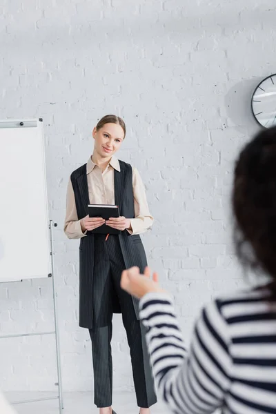
M 50 238 L 51 238 L 51 266 L 52 266 L 52 293 L 54 299 L 54 314 L 55 314 L 55 338 L 56 338 L 56 349 L 57 349 L 57 377 L 59 386 L 59 414 L 62 413 L 63 410 L 63 395 L 62 395 L 62 383 L 61 383 L 61 362 L 60 362 L 60 351 L 59 351 L 59 325 L 57 321 L 57 293 L 56 293 L 56 285 L 55 285 L 55 264 L 54 264 L 54 240 L 52 234 L 53 226 L 57 227 L 57 224 L 53 224 L 52 220 L 50 220 Z

